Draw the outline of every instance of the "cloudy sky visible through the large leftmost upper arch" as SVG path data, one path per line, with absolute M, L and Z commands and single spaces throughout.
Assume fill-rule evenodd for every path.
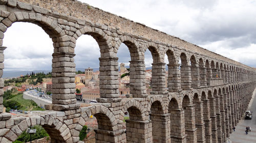
M 51 70 L 52 40 L 41 27 L 13 23 L 5 33 L 5 70 Z

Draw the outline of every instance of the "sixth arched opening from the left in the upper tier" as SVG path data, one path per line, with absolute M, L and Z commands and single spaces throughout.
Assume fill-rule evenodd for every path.
M 187 56 L 184 52 L 180 54 L 180 84 L 181 89 L 191 90 L 191 73 L 190 66 L 188 65 Z

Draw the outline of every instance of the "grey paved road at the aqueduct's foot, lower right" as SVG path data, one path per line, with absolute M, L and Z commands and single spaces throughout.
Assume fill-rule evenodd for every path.
M 230 134 L 230 143 L 255 143 L 256 142 L 256 89 L 253 92 L 251 102 L 248 110 L 252 111 L 252 120 L 245 120 L 244 117 L 239 121 L 236 126 L 236 131 Z M 246 126 L 251 127 L 251 132 L 245 134 Z M 227 141 L 228 142 L 228 141 Z

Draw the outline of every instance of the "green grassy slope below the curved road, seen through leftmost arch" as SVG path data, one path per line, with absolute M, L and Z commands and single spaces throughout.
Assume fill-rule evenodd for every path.
M 22 93 L 19 93 L 17 96 L 15 96 L 11 99 L 8 99 L 8 100 L 14 100 L 14 101 L 17 101 L 18 103 L 20 103 L 22 105 L 20 110 L 25 110 L 25 111 L 28 111 L 28 110 L 45 110 L 45 109 L 42 109 L 40 107 L 38 108 L 36 106 L 33 106 L 34 101 L 24 99 Z

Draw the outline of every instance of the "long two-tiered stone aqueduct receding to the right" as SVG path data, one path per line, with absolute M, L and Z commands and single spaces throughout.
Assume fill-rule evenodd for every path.
M 28 117 L 4 113 L 1 79 L 1 142 L 14 141 L 33 125 L 44 127 L 51 142 L 79 142 L 79 131 L 91 115 L 98 121 L 96 142 L 225 142 L 256 85 L 256 70 L 251 67 L 77 1 L 0 0 L 0 9 L 1 46 L 12 23 L 31 22 L 49 35 L 54 47 L 53 104 L 46 106 L 49 110 Z M 91 35 L 100 48 L 100 98 L 98 104 L 81 108 L 74 94 L 73 57 L 76 40 L 83 34 Z M 118 98 L 117 51 L 121 43 L 131 54 L 132 98 Z M 1 76 L 5 48 L 0 48 Z M 145 89 L 146 49 L 153 56 L 150 95 Z M 167 91 L 165 54 L 169 62 Z M 126 110 L 130 119 L 124 128 Z

